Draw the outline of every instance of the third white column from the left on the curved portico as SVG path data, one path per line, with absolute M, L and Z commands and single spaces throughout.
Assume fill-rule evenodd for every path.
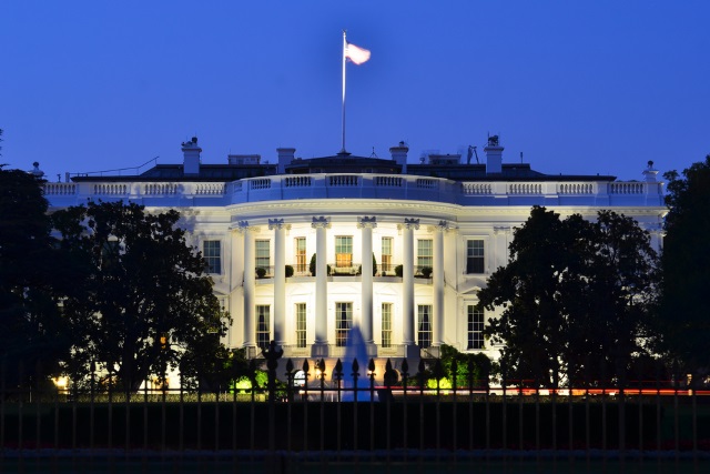
M 315 342 L 313 356 L 328 355 L 328 275 L 327 275 L 327 232 L 331 223 L 326 218 L 313 218 L 315 229 Z

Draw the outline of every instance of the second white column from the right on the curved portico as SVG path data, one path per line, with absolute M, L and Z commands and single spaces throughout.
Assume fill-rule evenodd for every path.
M 402 230 L 402 320 L 405 356 L 418 356 L 414 340 L 414 230 L 419 229 L 418 219 L 405 219 Z

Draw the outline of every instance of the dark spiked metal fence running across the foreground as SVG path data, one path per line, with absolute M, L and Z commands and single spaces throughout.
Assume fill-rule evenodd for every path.
M 440 361 L 413 374 L 375 364 L 291 360 L 266 382 L 193 390 L 144 384 L 138 392 L 90 383 L 65 390 L 0 390 L 0 457 L 17 453 L 277 453 L 278 456 L 406 463 L 474 462 L 480 456 L 710 460 L 710 391 L 667 381 L 626 386 L 592 382 L 558 389 L 495 384 L 469 366 L 443 377 Z M 427 375 L 429 374 L 429 375 Z M 432 377 L 433 375 L 433 377 Z M 376 382 L 383 380 L 384 382 Z M 143 450 L 143 451 L 140 451 Z M 261 454 L 260 454 L 261 453 Z M 351 456 L 351 457 L 348 457 Z

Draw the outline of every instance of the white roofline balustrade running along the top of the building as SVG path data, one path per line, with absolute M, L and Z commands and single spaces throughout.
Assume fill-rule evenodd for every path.
M 77 205 L 90 199 L 133 201 L 190 198 L 204 205 L 296 199 L 390 199 L 462 205 L 581 204 L 663 205 L 661 182 L 638 181 L 471 181 L 392 174 L 308 174 L 244 179 L 230 183 L 113 182 L 47 183 L 51 205 Z

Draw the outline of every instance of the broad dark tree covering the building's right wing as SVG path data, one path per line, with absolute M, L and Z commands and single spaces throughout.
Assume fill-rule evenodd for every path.
M 657 255 L 649 234 L 611 211 L 589 222 L 535 206 L 509 251 L 508 265 L 478 294 L 479 307 L 503 309 L 485 334 L 505 344 L 504 379 L 622 382 L 652 335 Z

